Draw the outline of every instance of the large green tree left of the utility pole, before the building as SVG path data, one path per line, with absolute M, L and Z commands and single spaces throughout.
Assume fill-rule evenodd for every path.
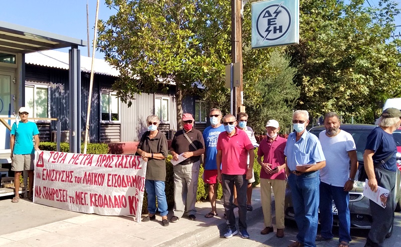
M 177 119 L 182 98 L 224 89 L 230 61 L 230 4 L 219 0 L 107 0 L 118 10 L 99 23 L 99 49 L 120 71 L 113 85 L 122 101 L 135 93 L 176 88 Z M 222 98 L 212 96 L 214 101 Z M 182 128 L 177 121 L 177 128 Z

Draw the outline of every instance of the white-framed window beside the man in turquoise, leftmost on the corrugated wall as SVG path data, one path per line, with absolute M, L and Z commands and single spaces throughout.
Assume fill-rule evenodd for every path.
M 49 87 L 25 85 L 25 107 L 30 110 L 30 117 L 49 118 Z

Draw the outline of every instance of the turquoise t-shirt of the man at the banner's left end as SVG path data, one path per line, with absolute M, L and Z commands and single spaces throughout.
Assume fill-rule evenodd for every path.
M 23 123 L 20 121 L 13 124 L 11 128 L 11 134 L 15 135 L 15 144 L 13 154 L 34 154 L 35 147 L 32 137 L 39 135 L 38 126 L 36 123 L 28 121 Z

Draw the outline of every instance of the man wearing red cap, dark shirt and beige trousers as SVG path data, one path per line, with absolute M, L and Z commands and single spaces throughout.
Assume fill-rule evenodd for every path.
M 190 220 L 196 220 L 195 202 L 199 177 L 199 158 L 205 153 L 205 142 L 202 133 L 193 127 L 194 122 L 191 114 L 184 113 L 182 115 L 184 128 L 175 133 L 171 142 L 170 151 L 173 160 L 185 158 L 173 166 L 174 208 L 171 222 L 177 222 L 184 213 L 188 215 Z

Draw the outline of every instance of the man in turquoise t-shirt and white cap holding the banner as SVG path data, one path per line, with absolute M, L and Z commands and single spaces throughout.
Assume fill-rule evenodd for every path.
M 39 150 L 39 130 L 34 122 L 28 121 L 29 109 L 21 107 L 18 111 L 21 121 L 16 121 L 11 129 L 10 148 L 11 148 L 11 170 L 14 171 L 14 186 L 16 196 L 11 202 L 20 201 L 20 176 L 25 169 L 28 171 L 29 178 L 29 199 L 33 200 L 34 186 L 34 160 L 35 150 Z M 35 146 L 32 141 L 35 138 Z

